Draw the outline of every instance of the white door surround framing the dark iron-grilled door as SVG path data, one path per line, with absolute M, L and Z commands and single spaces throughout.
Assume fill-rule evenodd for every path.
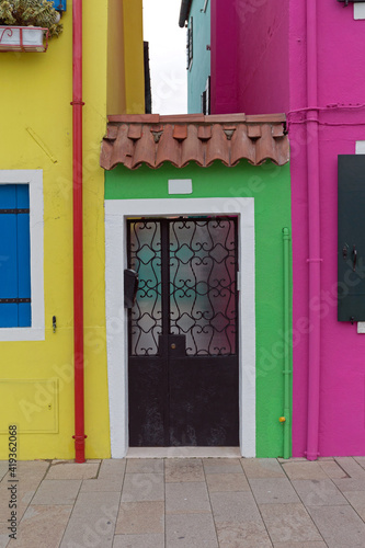
M 240 315 L 240 449 L 255 456 L 255 309 L 254 309 L 254 199 L 168 198 L 105 201 L 105 299 L 107 377 L 112 457 L 128 450 L 127 316 L 123 308 L 123 271 L 126 263 L 127 217 L 169 215 L 239 216 Z

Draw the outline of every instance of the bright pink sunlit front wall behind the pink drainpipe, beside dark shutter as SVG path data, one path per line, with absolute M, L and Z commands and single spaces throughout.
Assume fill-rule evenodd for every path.
M 338 155 L 355 153 L 365 140 L 365 21 L 354 21 L 353 5 L 318 2 L 319 176 L 321 209 L 321 351 L 319 453 L 365 454 L 365 335 L 356 324 L 337 321 Z M 292 0 L 289 32 L 290 110 L 306 106 L 306 13 Z M 303 114 L 289 114 L 293 193 L 294 330 L 308 316 L 307 136 Z M 303 456 L 307 436 L 308 336 L 294 347 L 293 453 Z

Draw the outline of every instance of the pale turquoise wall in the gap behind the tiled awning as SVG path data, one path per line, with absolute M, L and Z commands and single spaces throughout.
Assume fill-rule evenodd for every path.
M 205 0 L 193 0 L 189 16 L 193 18 L 193 62 L 187 70 L 187 112 L 202 112 L 201 95 L 205 90 L 206 80 L 210 76 L 210 1 L 203 12 Z

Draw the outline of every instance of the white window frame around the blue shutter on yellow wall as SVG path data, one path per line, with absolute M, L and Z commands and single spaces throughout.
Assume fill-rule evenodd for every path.
M 0 184 L 30 185 L 32 327 L 0 328 L 0 341 L 44 341 L 43 171 L 0 170 Z

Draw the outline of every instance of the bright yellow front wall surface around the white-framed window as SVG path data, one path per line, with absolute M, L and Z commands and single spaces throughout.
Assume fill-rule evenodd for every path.
M 87 458 L 110 456 L 104 172 L 99 167 L 106 126 L 107 1 L 87 0 L 83 8 Z M 44 181 L 45 341 L 0 342 L 0 395 L 12 393 L 0 397 L 1 422 L 23 424 L 20 459 L 75 457 L 71 0 L 62 23 L 64 33 L 50 41 L 46 54 L 0 54 L 0 168 L 42 169 Z M 0 458 L 8 458 L 1 430 Z

